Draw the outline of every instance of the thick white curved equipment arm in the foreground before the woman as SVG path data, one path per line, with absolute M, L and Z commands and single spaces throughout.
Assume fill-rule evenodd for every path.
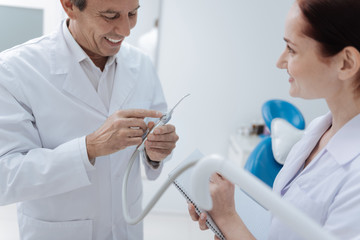
M 337 239 L 325 231 L 312 218 L 272 192 L 267 185 L 249 172 L 236 167 L 233 162 L 224 160 L 218 155 L 202 158 L 193 170 L 191 177 L 192 195 L 201 208 L 205 210 L 212 209 L 209 178 L 215 172 L 220 173 L 232 183 L 237 184 L 250 197 L 281 219 L 285 224 L 288 224 L 290 228 L 305 239 Z

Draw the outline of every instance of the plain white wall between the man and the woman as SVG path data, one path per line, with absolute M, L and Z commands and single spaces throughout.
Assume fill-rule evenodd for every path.
M 307 123 L 327 111 L 323 101 L 291 98 L 288 75 L 275 66 L 285 48 L 283 30 L 291 4 L 285 0 L 163 1 L 160 79 L 170 106 L 182 95 L 192 94 L 171 120 L 180 140 L 165 172 L 194 148 L 226 156 L 229 135 L 261 119 L 261 106 L 268 99 L 294 103 Z M 175 209 L 184 204 L 180 200 L 170 189 L 157 209 Z

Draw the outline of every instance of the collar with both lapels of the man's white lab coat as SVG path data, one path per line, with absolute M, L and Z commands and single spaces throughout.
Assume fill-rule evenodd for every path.
M 53 44 L 51 48 L 51 73 L 54 75 L 65 74 L 66 79 L 63 84 L 65 91 L 95 108 L 104 116 L 109 116 L 117 109 L 120 109 L 133 92 L 136 79 L 138 79 L 140 58 L 130 54 L 130 46 L 123 42 L 119 53 L 110 60 L 115 61 L 117 67 L 110 109 L 107 111 L 85 72 L 79 67 L 79 61 L 86 59 L 86 56 L 82 55 L 80 51 L 71 52 L 64 36 L 66 31 L 70 34 L 66 20 L 64 20 L 60 31 L 55 33 L 57 34 L 54 36 L 56 44 Z M 75 42 L 72 37 L 71 39 Z M 80 46 L 78 47 L 80 48 Z M 75 58 L 69 59 L 69 56 L 74 56 L 74 54 Z

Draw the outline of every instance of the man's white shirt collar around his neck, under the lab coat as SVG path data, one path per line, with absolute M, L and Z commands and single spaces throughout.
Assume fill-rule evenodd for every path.
M 89 61 L 93 64 L 90 57 L 85 53 L 85 51 L 80 47 L 80 45 L 75 41 L 74 37 L 71 35 L 68 28 L 69 19 L 63 22 L 63 34 L 65 37 L 66 45 L 69 47 L 70 52 L 73 54 L 77 62 Z M 110 56 L 106 62 L 106 65 L 112 65 L 116 61 L 116 56 Z

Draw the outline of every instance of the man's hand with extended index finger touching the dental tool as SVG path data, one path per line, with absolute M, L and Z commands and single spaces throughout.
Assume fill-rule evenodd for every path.
M 144 118 L 161 116 L 158 111 L 145 109 L 115 112 L 98 130 L 86 136 L 89 159 L 108 155 L 128 146 L 139 145 L 147 129 Z

